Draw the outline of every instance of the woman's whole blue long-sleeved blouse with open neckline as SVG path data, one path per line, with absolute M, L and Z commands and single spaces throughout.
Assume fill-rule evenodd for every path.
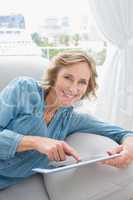
M 44 121 L 46 91 L 30 77 L 12 80 L 0 93 L 0 189 L 34 174 L 32 168 L 48 167 L 46 155 L 30 150 L 16 152 L 24 135 L 64 140 L 75 132 L 94 133 L 121 143 L 132 131 L 61 107 L 51 122 Z

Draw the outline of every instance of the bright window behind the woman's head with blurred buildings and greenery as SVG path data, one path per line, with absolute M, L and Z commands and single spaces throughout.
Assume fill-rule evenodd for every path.
M 85 49 L 97 65 L 104 63 L 107 45 L 88 0 L 5 0 L 0 13 L 0 54 L 41 54 L 50 59 L 64 49 Z

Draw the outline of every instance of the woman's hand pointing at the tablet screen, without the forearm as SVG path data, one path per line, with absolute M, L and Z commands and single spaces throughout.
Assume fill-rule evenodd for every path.
M 46 154 L 49 160 L 63 161 L 66 159 L 66 155 L 73 156 L 77 161 L 80 160 L 75 149 L 64 141 L 37 137 L 35 144 L 35 149 L 42 154 Z

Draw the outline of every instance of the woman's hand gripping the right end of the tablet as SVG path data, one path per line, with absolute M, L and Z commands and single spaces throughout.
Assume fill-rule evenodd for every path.
M 117 168 L 123 168 L 133 161 L 133 137 L 128 137 L 122 145 L 119 145 L 108 151 L 109 155 L 122 153 L 122 156 L 103 161 L 103 164 L 108 164 Z

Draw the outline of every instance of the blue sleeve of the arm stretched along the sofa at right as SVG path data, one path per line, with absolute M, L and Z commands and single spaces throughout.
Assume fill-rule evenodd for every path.
M 126 137 L 133 136 L 133 131 L 127 131 L 114 124 L 98 121 L 85 113 L 72 112 L 68 135 L 76 132 L 94 133 L 106 136 L 119 144 L 121 144 Z

